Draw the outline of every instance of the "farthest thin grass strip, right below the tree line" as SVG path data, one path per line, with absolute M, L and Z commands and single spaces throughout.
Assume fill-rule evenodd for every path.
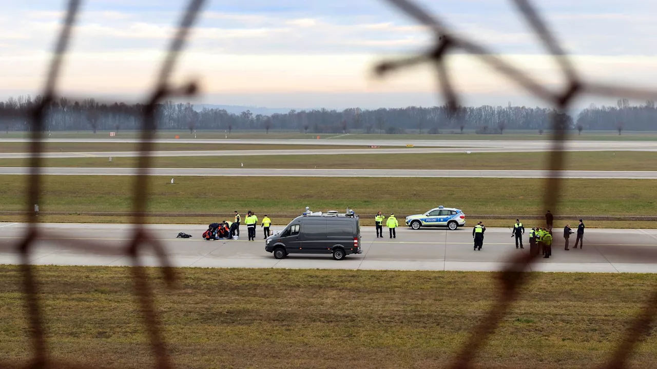
M 472 130 L 466 130 L 463 135 L 459 134 L 458 130 L 443 130 L 441 135 L 429 135 L 420 133 L 408 133 L 403 135 L 387 135 L 378 133 L 350 133 L 344 134 L 326 134 L 326 133 L 299 133 L 294 131 L 233 131 L 228 135 L 229 139 L 371 139 L 371 140 L 549 140 L 551 135 L 543 133 L 539 135 L 537 131 L 522 131 L 511 130 L 506 131 L 503 135 L 478 135 Z M 159 139 L 173 139 L 178 135 L 180 139 L 193 139 L 194 134 L 189 131 L 158 131 L 155 136 Z M 224 139 L 226 134 L 224 131 L 198 131 L 197 137 L 204 139 Z M 45 137 L 47 137 L 47 133 Z M 10 132 L 5 133 L 0 131 L 0 139 L 3 138 L 28 138 L 29 133 L 26 132 Z M 115 137 L 111 139 L 134 139 L 139 137 L 139 133 L 135 131 L 119 131 Z M 91 131 L 79 132 L 52 132 L 51 139 L 110 139 L 109 131 L 98 131 L 94 134 Z M 656 131 L 625 131 L 622 135 L 618 135 L 617 131 L 583 131 L 578 135 L 576 131 L 568 133 L 568 139 L 578 141 L 657 141 Z

